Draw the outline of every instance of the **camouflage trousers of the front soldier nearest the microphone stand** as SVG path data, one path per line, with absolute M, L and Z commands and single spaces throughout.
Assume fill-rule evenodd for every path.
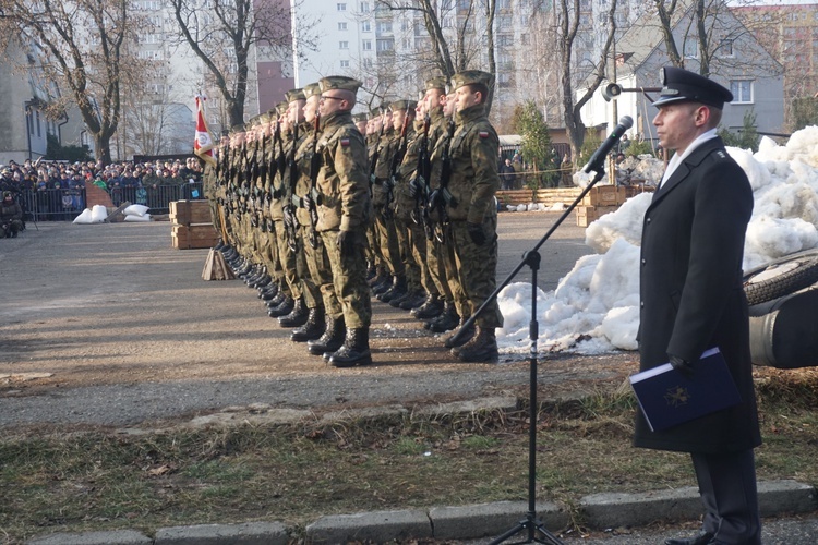
M 471 316 L 497 287 L 497 216 L 483 220 L 485 242 L 477 245 L 471 240 L 466 221 L 452 222 L 455 266 L 466 296 L 466 315 Z M 503 314 L 494 299 L 478 316 L 480 327 L 503 327 Z

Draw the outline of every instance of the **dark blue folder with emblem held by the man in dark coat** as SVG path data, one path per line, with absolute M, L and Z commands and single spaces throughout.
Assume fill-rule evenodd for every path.
M 685 377 L 670 363 L 630 376 L 630 386 L 652 432 L 660 432 L 742 402 L 727 362 L 712 348 Z

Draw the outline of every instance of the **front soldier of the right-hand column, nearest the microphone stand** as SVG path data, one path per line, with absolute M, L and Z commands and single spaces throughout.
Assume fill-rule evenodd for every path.
M 455 89 L 457 129 L 449 153 L 452 179 L 448 189 L 457 206 L 446 206 L 452 225 L 457 276 L 468 300 L 470 316 L 496 288 L 497 207 L 494 195 L 497 175 L 497 133 L 489 122 L 485 102 L 493 76 L 469 70 L 452 77 Z M 494 329 L 503 326 L 503 315 L 493 300 L 476 320 L 474 332 L 462 346 L 452 338 L 452 353 L 467 362 L 497 361 Z M 468 335 L 464 336 L 468 337 Z

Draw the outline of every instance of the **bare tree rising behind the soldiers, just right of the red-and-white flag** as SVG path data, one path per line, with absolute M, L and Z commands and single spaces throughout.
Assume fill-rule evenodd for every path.
M 230 124 L 244 120 L 250 55 L 264 48 L 289 58 L 293 33 L 299 53 L 315 49 L 306 21 L 292 28 L 290 3 L 281 0 L 170 0 L 181 37 L 204 63 L 208 81 L 218 89 Z M 297 9 L 297 8 L 293 8 Z M 312 45 L 311 45 L 312 44 Z

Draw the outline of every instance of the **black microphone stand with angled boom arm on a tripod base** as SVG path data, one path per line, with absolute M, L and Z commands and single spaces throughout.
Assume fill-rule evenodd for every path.
M 553 234 L 553 232 L 556 230 L 557 227 L 565 220 L 565 218 L 568 217 L 568 215 L 574 210 L 574 208 L 577 207 L 579 203 L 582 202 L 585 196 L 591 191 L 591 189 L 599 182 L 604 175 L 605 171 L 602 168 L 601 165 L 589 165 L 585 169 L 593 170 L 596 172 L 596 175 L 591 180 L 591 182 L 588 184 L 588 186 L 582 190 L 582 192 L 579 194 L 579 196 L 572 203 L 570 206 L 563 213 L 562 216 L 556 220 L 556 222 L 549 229 L 549 231 L 543 235 L 542 239 L 540 239 L 540 242 L 538 242 L 534 247 L 522 254 L 522 259 L 520 263 L 514 268 L 514 270 L 508 275 L 508 277 L 503 280 L 503 282 L 497 286 L 497 288 L 483 301 L 483 304 L 480 305 L 480 307 L 472 314 L 469 319 L 467 319 L 462 327 L 458 330 L 457 334 L 453 337 L 453 339 L 456 339 L 459 335 L 461 335 L 464 331 L 468 330 L 471 324 L 474 323 L 474 319 L 480 315 L 480 313 L 483 312 L 483 310 L 489 305 L 490 302 L 495 300 L 497 298 L 497 294 L 510 283 L 510 281 L 514 279 L 515 276 L 517 276 L 517 272 L 519 272 L 522 267 L 528 265 L 528 267 L 531 269 L 531 320 L 529 322 L 529 328 L 528 328 L 528 338 L 529 338 L 529 428 L 528 428 L 528 513 L 526 514 L 526 518 L 517 523 L 514 528 L 508 530 L 506 533 L 491 542 L 491 545 L 497 545 L 500 543 L 505 542 L 509 537 L 522 532 L 524 530 L 528 531 L 528 538 L 527 541 L 521 542 L 514 542 L 515 544 L 522 544 L 522 543 L 550 543 L 552 545 L 563 545 L 563 542 L 557 540 L 557 537 L 549 532 L 542 524 L 540 520 L 537 519 L 537 416 L 539 412 L 539 407 L 537 404 L 537 339 L 539 337 L 539 323 L 537 322 L 537 271 L 540 268 L 540 253 L 539 249 L 542 246 L 546 240 L 549 240 L 549 237 Z

